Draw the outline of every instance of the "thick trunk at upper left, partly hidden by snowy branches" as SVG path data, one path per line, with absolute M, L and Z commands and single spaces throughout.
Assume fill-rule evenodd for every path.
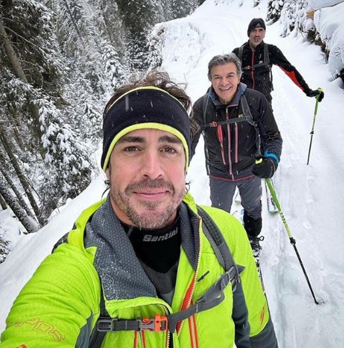
M 13 49 L 13 47 L 11 45 L 11 41 L 8 38 L 5 27 L 3 26 L 1 20 L 0 20 L 0 35 L 3 39 L 3 42 L 4 42 L 3 46 L 5 48 L 6 55 L 8 57 L 8 60 L 11 63 L 11 66 L 12 66 L 14 73 L 16 74 L 17 78 L 21 79 L 23 82 L 25 82 L 27 84 L 28 80 L 27 80 L 27 77 L 26 77 L 24 70 L 22 68 L 22 64 L 19 61 L 19 59 L 15 53 L 15 50 Z M 40 152 L 42 158 L 44 159 L 45 154 L 44 154 L 44 149 L 41 145 L 42 132 L 41 132 L 40 121 L 39 121 L 39 107 L 38 107 L 38 105 L 36 105 L 34 102 L 31 102 L 30 111 L 31 111 L 32 119 L 33 119 L 33 133 L 34 133 L 34 136 L 35 136 L 37 143 L 40 144 L 39 152 Z

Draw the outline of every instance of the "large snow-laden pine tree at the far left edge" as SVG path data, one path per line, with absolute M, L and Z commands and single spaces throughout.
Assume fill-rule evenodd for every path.
M 17 158 L 21 157 L 23 147 L 30 153 L 26 175 L 41 195 L 36 196 L 40 198 L 41 211 L 35 213 L 40 215 L 39 219 L 47 218 L 58 202 L 75 197 L 90 182 L 88 151 L 66 118 L 70 116 L 65 113 L 67 103 L 62 96 L 66 70 L 51 12 L 34 0 L 7 1 L 1 11 L 3 27 L 17 59 L 11 60 L 8 51 L 0 58 L 5 77 L 1 83 L 6 92 L 6 97 L 0 98 L 0 112 L 4 117 L 13 114 L 12 124 L 16 125 L 23 144 L 19 145 L 13 137 L 10 147 Z M 61 159 L 65 165 L 57 165 Z M 47 182 L 54 189 L 47 189 Z M 49 206 L 42 213 L 46 202 Z

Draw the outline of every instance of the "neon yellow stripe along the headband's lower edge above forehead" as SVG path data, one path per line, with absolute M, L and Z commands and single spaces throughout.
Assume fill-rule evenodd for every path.
M 160 89 L 160 88 L 157 88 L 157 89 Z M 133 130 L 145 129 L 145 128 L 164 130 L 166 132 L 174 134 L 183 144 L 183 147 L 184 147 L 184 150 L 185 150 L 185 171 L 188 170 L 188 166 L 189 166 L 189 148 L 188 148 L 188 144 L 187 144 L 183 134 L 180 133 L 179 130 L 177 130 L 177 129 L 171 127 L 171 126 L 163 125 L 161 123 L 156 123 L 156 122 L 147 122 L 147 123 L 138 123 L 138 124 L 131 125 L 129 127 L 126 127 L 124 129 L 122 129 L 120 132 L 118 132 L 116 134 L 116 136 L 112 140 L 112 142 L 111 142 L 111 144 L 109 146 L 109 149 L 107 150 L 107 153 L 106 153 L 106 157 L 105 157 L 104 165 L 103 165 L 103 171 L 104 172 L 106 171 L 106 168 L 107 168 L 107 165 L 109 163 L 112 150 L 115 147 L 117 141 L 120 140 L 123 135 L 128 134 L 129 132 L 132 132 Z

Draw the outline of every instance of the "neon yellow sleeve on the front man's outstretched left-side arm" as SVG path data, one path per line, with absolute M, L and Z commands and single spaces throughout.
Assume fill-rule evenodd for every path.
M 92 262 L 64 243 L 41 263 L 14 301 L 0 347 L 75 347 L 82 333 L 90 335 L 99 300 L 100 283 Z

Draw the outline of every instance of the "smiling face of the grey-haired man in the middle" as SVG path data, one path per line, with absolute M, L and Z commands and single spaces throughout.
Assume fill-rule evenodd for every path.
M 222 104 L 228 104 L 234 98 L 240 75 L 237 73 L 235 63 L 215 65 L 211 68 L 211 84 Z

